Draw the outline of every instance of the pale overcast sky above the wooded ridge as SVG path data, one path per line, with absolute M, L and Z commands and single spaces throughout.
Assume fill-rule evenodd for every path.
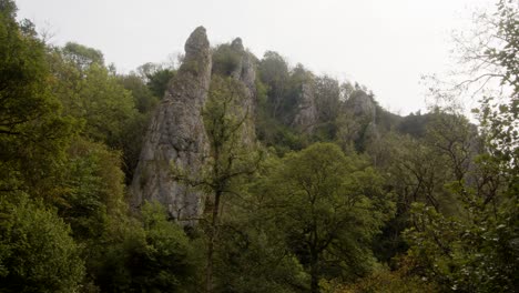
M 426 110 L 423 75 L 452 69 L 452 31 L 493 0 L 16 0 L 51 43 L 103 52 L 118 71 L 165 62 L 204 26 L 211 44 L 241 37 L 317 74 L 357 81 L 387 110 Z

